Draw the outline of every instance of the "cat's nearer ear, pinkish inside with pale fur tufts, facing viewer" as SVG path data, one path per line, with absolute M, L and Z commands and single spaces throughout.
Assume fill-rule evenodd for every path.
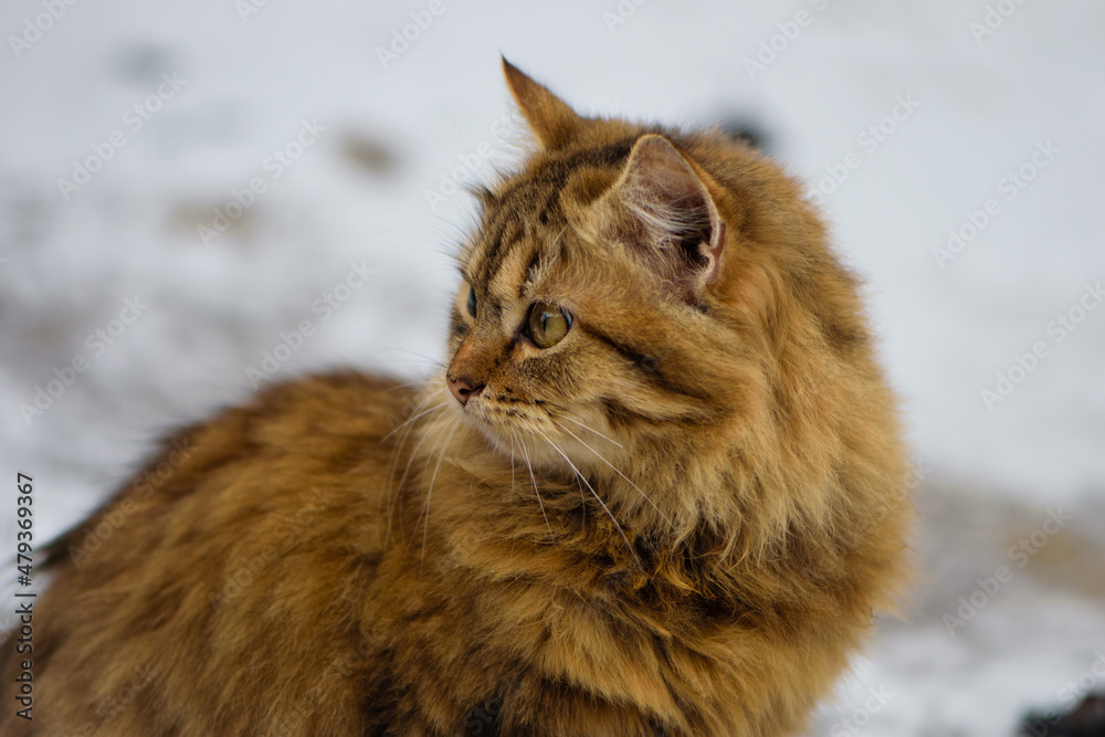
M 707 177 L 666 138 L 649 134 L 633 146 L 611 192 L 630 220 L 619 240 L 688 297 L 717 280 L 725 255 L 725 221 Z

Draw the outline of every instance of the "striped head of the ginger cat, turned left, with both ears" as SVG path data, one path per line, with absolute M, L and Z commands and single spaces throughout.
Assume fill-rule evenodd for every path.
M 581 117 L 504 69 L 536 150 L 477 192 L 453 410 L 507 456 L 636 484 L 788 442 L 867 352 L 797 185 L 720 133 Z

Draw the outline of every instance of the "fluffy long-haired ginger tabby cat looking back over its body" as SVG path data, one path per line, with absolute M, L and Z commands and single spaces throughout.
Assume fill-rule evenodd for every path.
M 831 692 L 906 575 L 855 280 L 757 151 L 505 72 L 536 150 L 448 370 L 179 433 L 53 545 L 0 733 L 792 735 Z

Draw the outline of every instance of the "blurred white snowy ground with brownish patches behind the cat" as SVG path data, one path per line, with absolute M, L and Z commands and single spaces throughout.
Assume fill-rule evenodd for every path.
M 583 112 L 751 119 L 821 191 L 869 282 L 925 517 L 907 620 L 817 734 L 1011 735 L 1069 682 L 1105 686 L 1105 7 L 991 4 L 9 0 L 3 477 L 33 474 L 38 537 L 60 531 L 152 435 L 249 392 L 304 319 L 278 377 L 424 371 L 443 253 L 471 224 L 454 180 L 514 155 L 502 52 Z M 375 273 L 345 291 L 351 264 Z M 39 388 L 57 396 L 21 409 Z

